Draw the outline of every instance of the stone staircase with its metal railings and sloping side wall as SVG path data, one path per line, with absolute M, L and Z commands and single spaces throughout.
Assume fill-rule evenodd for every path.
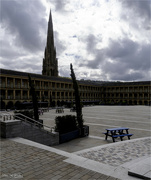
M 59 134 L 53 127 L 21 113 L 0 112 L 0 128 L 2 138 L 22 137 L 48 146 L 59 144 Z

